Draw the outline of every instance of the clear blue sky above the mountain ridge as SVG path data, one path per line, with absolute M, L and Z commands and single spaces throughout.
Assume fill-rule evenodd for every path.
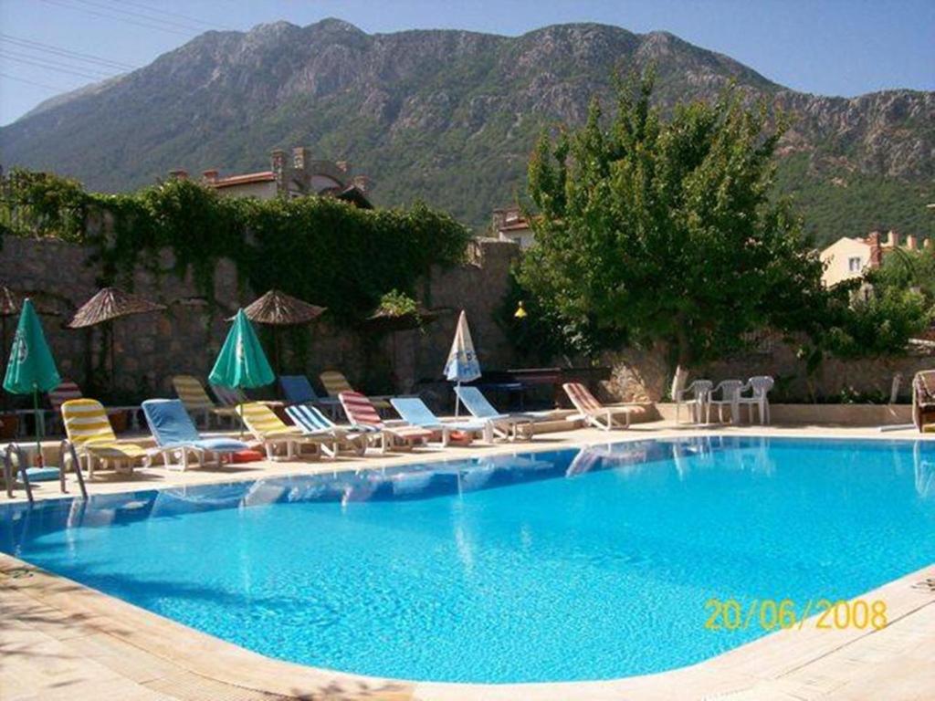
M 325 17 L 505 35 L 599 21 L 672 32 L 810 93 L 935 90 L 935 0 L 0 0 L 0 124 L 209 29 Z

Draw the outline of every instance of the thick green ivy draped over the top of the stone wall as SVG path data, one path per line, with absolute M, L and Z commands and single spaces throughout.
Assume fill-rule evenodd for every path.
M 130 287 L 137 269 L 191 272 L 209 300 L 216 264 L 228 258 L 254 292 L 281 289 L 352 325 L 384 293 L 414 294 L 432 265 L 459 263 L 469 231 L 423 204 L 370 210 L 331 197 L 226 198 L 188 179 L 89 193 L 75 180 L 16 169 L 2 183 L 0 243 L 2 236 L 88 245 L 102 286 Z M 163 250 L 172 252 L 171 269 L 160 268 Z

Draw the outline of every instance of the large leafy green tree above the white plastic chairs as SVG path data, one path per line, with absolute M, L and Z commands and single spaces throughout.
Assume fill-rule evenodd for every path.
M 772 196 L 782 124 L 732 90 L 667 120 L 652 93 L 650 75 L 618 81 L 610 120 L 595 101 L 581 129 L 540 137 L 522 286 L 556 330 L 594 348 L 661 343 L 683 367 L 758 327 L 817 327 L 821 263 Z

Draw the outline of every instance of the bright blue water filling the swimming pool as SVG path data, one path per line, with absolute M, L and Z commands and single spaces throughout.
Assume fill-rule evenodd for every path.
M 935 562 L 935 443 L 694 437 L 0 509 L 0 550 L 272 657 L 406 679 L 699 662 L 714 597 Z

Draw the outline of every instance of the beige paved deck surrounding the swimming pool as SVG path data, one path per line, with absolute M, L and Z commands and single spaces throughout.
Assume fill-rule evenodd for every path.
M 832 426 L 675 427 L 635 425 L 610 435 L 591 429 L 536 436 L 528 443 L 427 449 L 337 463 L 256 463 L 133 476 L 100 472 L 91 494 L 161 489 L 233 479 L 380 468 L 482 454 L 554 450 L 608 440 L 701 434 L 835 436 L 888 439 L 913 431 Z M 74 478 L 71 478 L 72 480 Z M 77 485 L 69 482 L 70 494 Z M 22 491 L 17 500 L 22 499 Z M 57 482 L 37 485 L 36 499 L 61 496 Z M 6 495 L 0 504 L 7 503 Z M 101 594 L 70 579 L 0 554 L 0 699 L 253 701 L 254 699 L 413 699 L 420 701 L 932 701 L 935 699 L 935 565 L 860 598 L 883 599 L 881 630 L 801 629 L 761 637 L 698 665 L 621 680 L 478 685 L 381 680 L 273 660 Z M 698 635 L 717 635 L 699 630 Z

